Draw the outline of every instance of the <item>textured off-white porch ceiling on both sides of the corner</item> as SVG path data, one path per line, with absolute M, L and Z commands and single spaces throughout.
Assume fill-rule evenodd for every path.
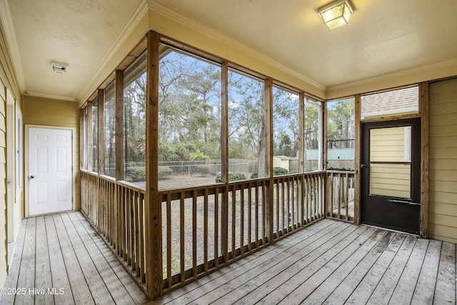
M 142 0 L 0 1 L 23 91 L 76 99 Z M 327 88 L 457 60 L 456 0 L 353 0 L 349 24 L 333 31 L 316 14 L 330 0 L 155 1 Z M 69 71 L 54 74 L 51 61 Z

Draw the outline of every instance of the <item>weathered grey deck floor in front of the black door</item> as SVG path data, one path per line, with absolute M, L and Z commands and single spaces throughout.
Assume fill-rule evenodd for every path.
M 456 245 L 325 219 L 151 304 L 456 304 Z

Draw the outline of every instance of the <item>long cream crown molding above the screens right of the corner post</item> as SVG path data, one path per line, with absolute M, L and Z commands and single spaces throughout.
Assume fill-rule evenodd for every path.
M 246 44 L 243 44 L 240 41 L 233 39 L 231 36 L 228 36 L 227 34 L 224 34 L 221 31 L 213 29 L 210 26 L 207 26 L 206 24 L 203 24 L 199 21 L 195 21 L 194 19 L 190 19 L 187 16 L 176 13 L 176 11 L 172 11 L 171 9 L 167 8 L 166 6 L 163 6 L 162 4 L 157 3 L 154 0 L 146 1 L 151 11 L 161 14 L 166 18 L 172 19 L 173 21 L 176 21 L 179 24 L 188 26 L 191 29 L 194 29 L 195 31 L 199 31 L 201 34 L 204 34 L 205 36 L 208 36 L 209 38 L 214 39 L 215 41 L 220 41 L 222 44 L 227 44 L 233 47 L 234 49 L 238 49 L 243 53 L 256 57 L 257 59 L 260 59 L 266 64 L 269 64 L 270 66 L 273 66 L 281 71 L 285 71 L 287 74 L 290 74 L 291 76 L 296 77 L 296 79 L 300 79 L 301 81 L 304 81 L 307 84 L 310 84 L 311 86 L 314 86 L 323 91 L 326 91 L 327 89 L 327 87 L 323 86 L 323 84 L 320 84 L 317 81 L 314 81 L 313 79 L 310 79 L 307 76 L 304 76 L 303 74 L 298 73 L 297 71 L 290 69 L 287 66 L 284 66 L 283 64 L 279 64 L 278 61 L 271 59 L 271 57 L 268 57 L 262 54 L 260 51 L 257 51 L 256 49 L 253 49 L 250 46 L 247 46 Z

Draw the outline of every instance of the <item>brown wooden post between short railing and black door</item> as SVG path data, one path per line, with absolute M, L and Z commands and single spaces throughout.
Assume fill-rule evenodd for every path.
M 360 224 L 360 186 L 361 186 L 361 149 L 362 149 L 362 134 L 361 134 L 361 95 L 356 94 L 355 96 L 355 116 L 356 116 L 356 128 L 355 128 L 355 161 L 354 161 L 354 223 Z

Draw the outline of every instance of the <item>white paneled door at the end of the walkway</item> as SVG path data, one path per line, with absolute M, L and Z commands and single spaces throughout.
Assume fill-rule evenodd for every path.
M 29 215 L 73 208 L 72 131 L 29 127 Z

